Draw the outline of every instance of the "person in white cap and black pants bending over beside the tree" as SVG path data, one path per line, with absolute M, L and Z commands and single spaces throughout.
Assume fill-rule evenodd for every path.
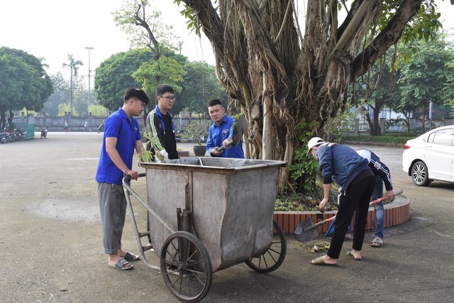
M 367 224 L 367 211 L 375 187 L 375 175 L 369 167 L 369 161 L 362 158 L 353 148 L 343 144 L 326 143 L 322 138 L 314 137 L 307 144 L 306 155 L 313 155 L 319 160 L 323 180 L 323 199 L 319 204 L 325 211 L 331 191 L 331 182 L 341 187 L 339 208 L 336 214 L 333 237 L 326 255 L 311 260 L 314 265 L 336 265 L 345 233 L 355 214 L 355 233 L 352 250 L 347 255 L 361 260 L 361 249 Z

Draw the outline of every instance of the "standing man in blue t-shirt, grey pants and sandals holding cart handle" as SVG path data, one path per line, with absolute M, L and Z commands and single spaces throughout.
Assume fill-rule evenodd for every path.
M 96 171 L 104 253 L 109 255 L 108 265 L 119 270 L 133 268 L 129 261 L 140 258 L 121 249 L 126 216 L 122 180 L 126 175 L 133 180 L 138 179 L 138 172 L 132 170 L 133 155 L 134 150 L 140 153 L 143 144 L 138 122 L 133 117 L 142 113 L 148 101 L 148 96 L 142 89 L 126 90 L 123 106 L 106 119 Z

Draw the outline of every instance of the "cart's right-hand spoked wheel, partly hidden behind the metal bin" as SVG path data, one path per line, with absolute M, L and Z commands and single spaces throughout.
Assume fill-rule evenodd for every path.
M 272 221 L 272 242 L 270 248 L 261 255 L 255 255 L 245 263 L 256 272 L 272 272 L 277 270 L 279 266 L 284 262 L 285 254 L 287 253 L 287 238 L 285 233 L 282 231 L 281 226 L 273 220 Z

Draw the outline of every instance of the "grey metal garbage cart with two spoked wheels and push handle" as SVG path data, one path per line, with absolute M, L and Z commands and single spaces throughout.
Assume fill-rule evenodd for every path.
M 272 215 L 279 167 L 285 165 L 198 157 L 142 162 L 146 202 L 123 179 L 140 255 L 148 267 L 162 272 L 172 294 L 198 302 L 209 292 L 213 272 L 238 263 L 257 272 L 279 268 L 287 241 Z M 131 194 L 148 209 L 146 232 L 138 231 Z M 144 237 L 150 244 L 142 245 Z M 145 250 L 152 248 L 159 267 L 145 258 Z

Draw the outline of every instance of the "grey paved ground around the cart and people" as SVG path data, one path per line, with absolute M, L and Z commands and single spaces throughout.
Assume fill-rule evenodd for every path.
M 126 272 L 106 266 L 94 182 L 101 141 L 102 133 L 50 132 L 0 145 L 0 302 L 177 302 L 142 262 Z M 454 184 L 416 187 L 402 172 L 402 148 L 370 148 L 411 199 L 411 221 L 387 228 L 383 248 L 370 248 L 367 233 L 361 262 L 345 256 L 345 243 L 338 266 L 323 268 L 309 264 L 318 255 L 308 248 L 324 238 L 288 235 L 279 269 L 216 272 L 204 302 L 453 302 Z M 140 182 L 133 186 L 144 194 Z M 146 221 L 138 206 L 135 214 Z M 129 216 L 123 239 L 134 251 Z

